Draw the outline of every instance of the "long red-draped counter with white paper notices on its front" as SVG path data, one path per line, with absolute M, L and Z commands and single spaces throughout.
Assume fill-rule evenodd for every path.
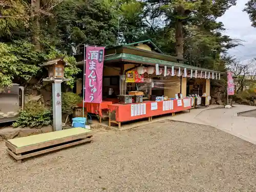
M 152 121 L 153 116 L 173 113 L 191 109 L 191 98 L 167 101 L 143 101 L 133 104 L 110 104 L 109 105 L 109 126 L 111 123 L 121 127 L 122 122 L 129 122 L 136 119 L 148 118 Z

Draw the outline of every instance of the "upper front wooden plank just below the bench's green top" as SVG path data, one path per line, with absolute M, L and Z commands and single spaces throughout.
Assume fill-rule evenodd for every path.
M 74 135 L 74 136 L 71 136 L 71 137 L 65 137 L 65 138 L 59 138 L 59 139 L 56 139 L 56 140 L 40 142 L 40 143 L 37 143 L 35 145 L 31 145 L 31 146 L 25 146 L 25 147 L 22 147 L 22 148 L 15 148 L 14 153 L 19 154 L 19 153 L 29 152 L 29 151 L 36 150 L 36 149 L 41 149 L 41 148 L 45 148 L 45 147 L 58 145 L 58 144 L 63 143 L 63 142 L 68 142 L 68 141 L 72 141 L 72 140 L 76 140 L 76 139 L 86 138 L 86 137 L 89 137 L 89 136 L 92 136 L 92 135 L 93 135 L 93 133 L 89 132 L 89 133 L 85 133 L 85 134 Z

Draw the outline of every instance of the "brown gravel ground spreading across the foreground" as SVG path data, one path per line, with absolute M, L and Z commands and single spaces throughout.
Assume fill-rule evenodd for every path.
M 0 142 L 0 191 L 256 191 L 256 147 L 218 129 L 160 122 L 16 163 Z

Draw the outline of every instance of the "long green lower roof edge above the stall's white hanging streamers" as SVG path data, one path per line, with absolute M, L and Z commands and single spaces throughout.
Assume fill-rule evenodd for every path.
M 186 65 L 183 63 L 176 63 L 176 62 L 172 62 L 172 61 L 165 61 L 165 60 L 160 60 L 160 59 L 142 57 L 142 56 L 138 56 L 138 55 L 125 54 L 125 53 L 105 56 L 104 61 L 114 61 L 114 60 L 118 60 L 118 59 L 130 60 L 131 62 L 132 61 L 141 62 L 141 64 L 143 64 L 143 63 L 156 64 L 157 63 L 157 64 L 160 64 L 160 66 L 166 65 L 169 67 L 174 66 L 175 68 L 182 67 L 182 68 L 193 69 L 193 70 L 197 69 L 197 70 L 203 70 L 203 71 L 208 71 L 208 72 L 225 74 L 223 72 L 211 70 L 211 69 L 207 69 L 207 68 L 200 68 L 200 67 L 196 67 L 196 66 L 192 66 L 192 65 Z

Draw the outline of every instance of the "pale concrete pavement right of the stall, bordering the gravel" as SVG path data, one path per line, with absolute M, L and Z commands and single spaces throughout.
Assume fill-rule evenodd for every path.
M 254 106 L 233 105 L 231 109 L 212 105 L 209 108 L 193 109 L 172 118 L 174 121 L 209 125 L 256 144 L 256 118 L 238 116 L 244 111 L 256 110 Z

